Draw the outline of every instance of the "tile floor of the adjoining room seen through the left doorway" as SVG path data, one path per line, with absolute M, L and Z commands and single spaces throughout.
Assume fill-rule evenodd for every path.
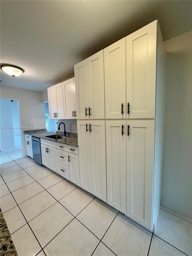
M 22 158 L 21 135 L 14 136 L 15 147 L 0 152 L 0 164 Z

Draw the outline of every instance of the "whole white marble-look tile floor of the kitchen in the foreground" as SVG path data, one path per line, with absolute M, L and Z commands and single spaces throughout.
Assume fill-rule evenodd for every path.
M 192 220 L 164 206 L 151 233 L 31 158 L 0 167 L 0 207 L 19 256 L 192 253 Z

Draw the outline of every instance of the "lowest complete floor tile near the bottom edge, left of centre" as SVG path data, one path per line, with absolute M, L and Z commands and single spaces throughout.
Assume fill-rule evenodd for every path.
M 53 239 L 72 219 L 70 214 L 60 203 L 55 203 L 46 211 L 29 222 L 35 236 L 44 247 Z

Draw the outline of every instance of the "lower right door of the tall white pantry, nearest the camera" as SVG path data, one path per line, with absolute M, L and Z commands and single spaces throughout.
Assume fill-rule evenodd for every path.
M 152 230 L 154 120 L 130 120 L 127 136 L 127 215 Z

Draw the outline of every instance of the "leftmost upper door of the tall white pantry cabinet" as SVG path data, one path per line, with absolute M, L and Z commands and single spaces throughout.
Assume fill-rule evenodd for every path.
M 77 119 L 89 119 L 87 60 L 74 65 Z M 86 113 L 86 115 L 85 115 Z

